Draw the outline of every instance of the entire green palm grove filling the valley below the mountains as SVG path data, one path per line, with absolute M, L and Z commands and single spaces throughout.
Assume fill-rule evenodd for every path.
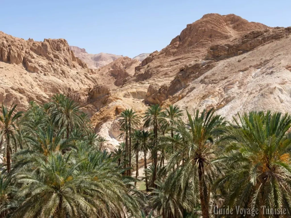
M 0 217 L 241 216 L 214 213 L 228 206 L 290 217 L 288 114 L 249 112 L 228 123 L 211 109 L 187 111 L 184 122 L 178 106 L 127 109 L 119 115 L 124 142 L 109 153 L 63 94 L 16 109 L 1 106 Z M 145 191 L 136 188 L 141 180 Z

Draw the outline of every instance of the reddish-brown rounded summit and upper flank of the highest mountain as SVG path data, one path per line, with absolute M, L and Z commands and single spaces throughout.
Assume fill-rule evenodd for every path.
M 136 67 L 132 81 L 152 77 L 175 76 L 181 67 L 195 59 L 205 59 L 212 44 L 231 44 L 252 31 L 272 29 L 264 24 L 248 22 L 237 15 L 207 14 L 182 30 L 161 51 L 155 51 Z

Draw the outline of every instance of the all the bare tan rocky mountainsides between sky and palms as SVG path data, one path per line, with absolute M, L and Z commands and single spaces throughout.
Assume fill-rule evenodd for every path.
M 68 94 L 92 116 L 109 149 L 118 144 L 117 116 L 125 108 L 214 107 L 228 120 L 250 110 L 291 112 L 290 35 L 291 27 L 207 14 L 144 60 L 120 57 L 89 69 L 65 40 L 34 42 L 0 33 L 0 102 L 24 109 L 30 100 Z

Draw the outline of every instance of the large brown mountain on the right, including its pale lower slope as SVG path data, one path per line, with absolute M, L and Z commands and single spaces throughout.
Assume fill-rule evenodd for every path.
M 157 103 L 190 112 L 214 107 L 228 120 L 250 110 L 291 112 L 290 34 L 290 27 L 272 28 L 233 14 L 204 15 L 112 91 L 122 99 L 116 108 L 129 102 L 137 111 Z M 111 141 L 118 135 L 115 106 L 92 117 L 96 130 Z M 107 112 L 112 116 L 103 122 Z

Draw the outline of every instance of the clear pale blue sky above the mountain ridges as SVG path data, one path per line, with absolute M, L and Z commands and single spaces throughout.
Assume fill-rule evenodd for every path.
M 0 0 L 0 8 L 4 33 L 38 41 L 64 38 L 88 53 L 129 57 L 161 50 L 207 13 L 291 26 L 290 0 Z

